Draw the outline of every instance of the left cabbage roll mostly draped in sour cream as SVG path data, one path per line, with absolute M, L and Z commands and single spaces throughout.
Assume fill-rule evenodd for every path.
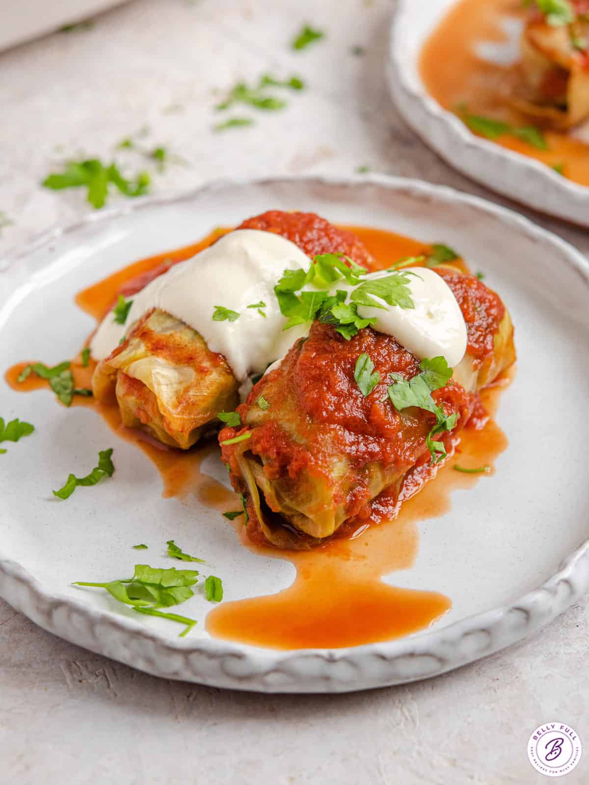
M 238 228 L 282 235 L 309 257 L 345 254 L 360 265 L 371 265 L 371 255 L 357 237 L 315 214 L 273 210 Z M 173 271 L 174 264 L 144 274 L 141 286 L 168 270 Z M 127 293 L 137 292 L 133 282 L 125 286 Z M 212 314 L 214 305 L 210 308 Z M 105 318 L 112 319 L 112 314 Z M 262 320 L 260 325 L 264 327 Z M 97 400 L 116 400 L 127 427 L 144 429 L 163 444 L 188 449 L 218 430 L 219 411 L 236 407 L 240 382 L 225 357 L 210 351 L 199 332 L 155 309 L 130 325 L 123 343 L 97 364 L 92 386 Z

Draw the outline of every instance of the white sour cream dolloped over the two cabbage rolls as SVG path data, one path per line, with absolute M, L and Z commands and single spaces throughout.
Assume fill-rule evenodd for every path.
M 308 334 L 309 323 L 283 330 L 286 318 L 280 312 L 274 287 L 285 269 L 308 269 L 310 262 L 298 246 L 272 232 L 229 232 L 135 294 L 124 325 L 115 323 L 109 313 L 90 343 L 92 356 L 104 360 L 137 319 L 159 308 L 197 330 L 212 352 L 225 356 L 243 385 L 251 374 L 263 373 L 269 363 L 284 357 L 298 338 Z M 459 305 L 447 283 L 433 270 L 414 268 L 411 272 L 415 275 L 408 276 L 408 287 L 415 309 L 381 301 L 385 309 L 361 305 L 358 312 L 363 318 L 375 316 L 375 330 L 393 335 L 419 360 L 442 355 L 453 367 L 466 351 L 466 325 Z M 373 272 L 361 280 L 390 274 Z M 334 292 L 337 289 L 353 287 L 340 281 L 333 287 Z M 250 307 L 261 302 L 263 306 Z M 239 317 L 234 321 L 214 320 L 218 305 L 239 313 Z

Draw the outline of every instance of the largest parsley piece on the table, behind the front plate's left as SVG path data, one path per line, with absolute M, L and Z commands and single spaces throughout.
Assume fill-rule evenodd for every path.
M 49 177 L 42 181 L 42 185 L 52 188 L 53 191 L 83 186 L 88 189 L 88 202 L 98 210 L 108 199 L 109 184 L 114 185 L 125 196 L 133 197 L 146 194 L 149 182 L 147 172 L 140 172 L 134 180 L 127 180 L 115 163 L 105 166 L 98 159 L 88 159 L 68 162 L 63 172 L 49 174 Z

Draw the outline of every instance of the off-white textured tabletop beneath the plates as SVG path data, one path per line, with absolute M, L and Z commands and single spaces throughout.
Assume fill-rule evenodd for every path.
M 92 29 L 0 55 L 0 254 L 90 210 L 80 191 L 38 182 L 69 156 L 110 159 L 138 142 L 182 162 L 155 173 L 116 152 L 153 190 L 224 174 L 350 173 L 370 166 L 496 199 L 448 169 L 398 118 L 383 75 L 386 0 L 137 0 Z M 327 38 L 302 53 L 303 22 Z M 364 47 L 363 55 L 351 53 Z M 308 83 L 256 125 L 212 133 L 223 90 L 264 71 Z M 219 91 L 219 92 L 217 92 Z M 496 201 L 501 201 L 496 199 Z M 516 208 L 517 209 L 517 208 Z M 247 206 L 244 208 L 247 214 Z M 589 234 L 533 216 L 589 252 Z M 563 520 L 554 525 L 564 526 Z M 38 629 L 0 600 L 0 782 L 541 783 L 530 732 L 565 721 L 586 752 L 587 601 L 529 641 L 435 680 L 349 696 L 258 696 L 157 680 Z

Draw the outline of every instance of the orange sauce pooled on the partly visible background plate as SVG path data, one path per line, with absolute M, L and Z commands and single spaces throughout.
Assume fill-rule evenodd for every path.
M 481 42 L 507 42 L 501 23 L 506 17 L 523 19 L 521 0 L 460 0 L 441 20 L 421 54 L 423 83 L 438 104 L 454 111 L 465 104 L 470 114 L 485 115 L 514 126 L 536 121 L 510 107 L 500 95 L 501 84 L 517 66 L 501 66 L 477 57 Z M 547 150 L 503 135 L 493 140 L 504 148 L 537 159 L 548 166 L 562 166 L 562 174 L 589 185 L 589 145 L 569 133 L 546 130 Z

